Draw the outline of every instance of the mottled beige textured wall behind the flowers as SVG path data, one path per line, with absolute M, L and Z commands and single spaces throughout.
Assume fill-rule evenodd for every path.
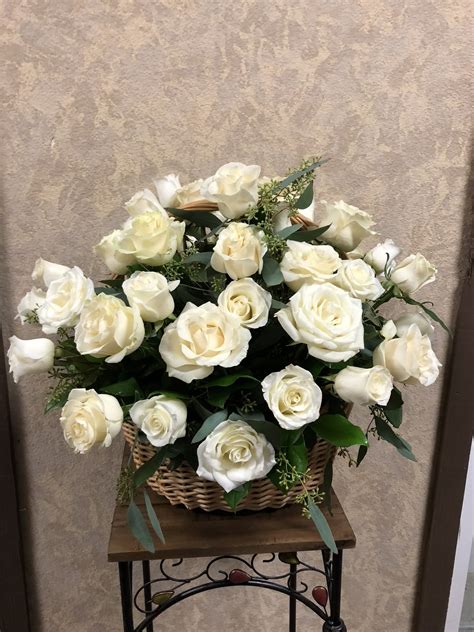
M 20 332 L 14 306 L 38 255 L 101 277 L 92 244 L 152 176 L 194 178 L 229 160 L 281 173 L 313 152 L 332 157 L 317 195 L 373 212 L 383 234 L 436 262 L 441 282 L 426 294 L 452 318 L 464 266 L 469 4 L 3 0 L 5 333 Z M 443 335 L 436 344 L 443 358 Z M 11 388 L 33 630 L 118 632 L 105 550 L 121 446 L 74 456 L 57 416 L 42 417 L 45 386 Z M 376 445 L 360 471 L 339 466 L 359 538 L 346 556 L 351 632 L 410 630 L 440 386 L 409 398 L 418 463 Z M 275 632 L 286 604 L 226 591 L 181 613 L 160 630 Z M 300 617 L 301 630 L 318 629 Z

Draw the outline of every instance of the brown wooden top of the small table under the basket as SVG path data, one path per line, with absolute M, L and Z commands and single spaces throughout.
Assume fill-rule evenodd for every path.
M 142 494 L 139 495 L 142 498 Z M 253 553 L 287 553 L 324 548 L 311 520 L 301 515 L 301 506 L 245 513 L 206 513 L 173 507 L 150 494 L 166 543 L 154 538 L 155 553 L 140 547 L 127 526 L 127 506 L 117 505 L 110 532 L 109 562 Z M 137 504 L 142 509 L 137 498 Z M 143 503 L 143 501 L 142 501 Z M 324 510 L 338 548 L 353 548 L 354 532 L 333 492 L 332 516 Z

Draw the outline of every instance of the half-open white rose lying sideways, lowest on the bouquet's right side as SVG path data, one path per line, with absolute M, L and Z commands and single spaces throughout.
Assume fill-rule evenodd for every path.
M 341 399 L 352 404 L 379 404 L 390 399 L 393 382 L 390 371 L 383 366 L 362 369 L 348 366 L 334 380 L 334 390 Z

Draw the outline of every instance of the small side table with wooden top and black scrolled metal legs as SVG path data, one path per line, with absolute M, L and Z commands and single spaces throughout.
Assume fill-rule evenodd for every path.
M 124 632 L 153 632 L 155 619 L 184 599 L 237 586 L 255 586 L 286 595 L 289 632 L 297 630 L 298 602 L 324 622 L 323 632 L 346 632 L 340 617 L 342 553 L 353 548 L 356 540 L 334 492 L 332 515 L 325 515 L 337 554 L 325 547 L 312 522 L 301 515 L 300 506 L 232 514 L 189 511 L 173 507 L 156 495 L 153 503 L 166 537 L 166 544 L 155 538 L 153 554 L 143 550 L 129 532 L 126 506 L 116 506 L 112 521 L 108 560 L 118 564 Z M 300 560 L 298 552 L 303 551 L 321 551 L 322 568 Z M 211 560 L 204 562 L 201 572 L 183 577 L 180 566 L 187 558 Z M 159 567 L 155 579 L 151 578 L 152 560 L 157 560 Z M 143 580 L 134 590 L 135 563 L 141 563 Z M 232 570 L 223 570 L 223 566 L 229 568 L 229 563 Z M 278 570 L 272 572 L 275 566 Z M 134 611 L 140 615 L 138 625 Z

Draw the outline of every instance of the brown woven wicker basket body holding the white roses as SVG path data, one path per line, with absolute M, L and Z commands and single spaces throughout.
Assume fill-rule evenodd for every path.
M 133 448 L 135 465 L 140 467 L 156 454 L 155 449 L 149 443 L 135 441 L 137 428 L 132 423 L 127 421 L 122 428 L 127 443 Z M 314 490 L 322 484 L 324 468 L 327 462 L 334 458 L 335 452 L 334 446 L 318 439 L 309 454 L 311 476 L 306 483 L 308 490 Z M 185 505 L 188 509 L 199 508 L 204 511 L 232 511 L 224 500 L 222 487 L 199 478 L 187 463 L 183 463 L 175 470 L 162 465 L 147 482 L 151 489 L 167 498 L 172 505 Z M 302 491 L 301 485 L 295 485 L 288 494 L 283 494 L 268 478 L 262 478 L 252 482 L 250 493 L 239 503 L 237 509 L 279 509 L 294 502 L 295 497 Z

